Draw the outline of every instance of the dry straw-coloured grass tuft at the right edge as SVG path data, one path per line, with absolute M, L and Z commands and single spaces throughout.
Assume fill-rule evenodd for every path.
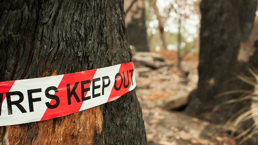
M 254 91 L 250 90 L 231 90 L 221 94 L 216 95 L 215 97 L 221 97 L 227 94 L 233 93 L 243 93 L 246 94 L 243 97 L 239 97 L 237 99 L 232 99 L 224 102 L 223 104 L 242 102 L 244 100 L 252 100 L 251 106 L 246 106 L 239 110 L 235 115 L 233 115 L 226 123 L 227 126 L 232 128 L 231 136 L 238 131 L 241 130 L 241 126 L 245 121 L 249 119 L 254 120 L 254 124 L 252 124 L 248 129 L 242 131 L 233 139 L 237 140 L 239 138 L 243 138 L 238 144 L 244 143 L 249 138 L 254 135 L 258 135 L 258 71 L 256 69 L 247 68 L 248 71 L 252 74 L 253 77 L 248 77 L 244 75 L 236 75 L 236 77 L 249 85 L 254 86 Z M 251 133 L 250 133 L 251 132 Z

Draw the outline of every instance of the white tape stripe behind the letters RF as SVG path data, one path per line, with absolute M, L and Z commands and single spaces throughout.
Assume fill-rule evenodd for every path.
M 62 80 L 64 75 L 58 75 L 58 76 L 51 76 L 51 77 L 41 77 L 41 78 L 34 78 L 26 80 L 16 80 L 13 83 L 12 88 L 10 89 L 9 92 L 12 91 L 20 91 L 24 95 L 24 100 L 22 103 L 20 103 L 24 109 L 26 110 L 27 113 L 21 113 L 21 111 L 15 106 L 12 105 L 12 115 L 8 115 L 8 110 L 7 110 L 7 100 L 6 98 L 4 99 L 2 103 L 2 111 L 1 111 L 1 116 L 0 116 L 0 123 L 1 126 L 6 126 L 6 125 L 13 125 L 21 123 L 28 123 L 28 122 L 34 122 L 34 121 L 39 121 L 42 116 L 44 115 L 47 107 L 45 106 L 45 103 L 41 102 L 50 102 L 51 99 L 48 99 L 45 96 L 45 89 L 48 86 L 58 86 Z M 29 82 L 29 83 L 28 83 Z M 31 86 L 30 84 L 33 84 Z M 33 87 L 33 88 L 32 88 Z M 41 102 L 34 102 L 34 112 L 30 112 L 29 109 L 29 104 L 28 104 L 28 89 L 34 89 L 34 88 L 41 88 L 41 92 L 38 93 L 33 93 L 32 98 L 41 98 Z M 11 101 L 15 101 L 14 96 L 11 98 Z M 18 100 L 18 99 L 16 99 Z M 37 107 L 35 107 L 37 106 Z M 33 116 L 33 117 L 31 117 Z

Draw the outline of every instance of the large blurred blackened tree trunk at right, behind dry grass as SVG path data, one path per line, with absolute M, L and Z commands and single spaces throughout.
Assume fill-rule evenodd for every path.
M 250 101 L 221 105 L 241 97 L 235 93 L 222 97 L 215 95 L 230 90 L 252 90 L 254 87 L 236 78 L 246 72 L 247 62 L 237 57 L 240 43 L 247 40 L 253 27 L 257 0 L 203 0 L 201 2 L 200 63 L 198 88 L 190 95 L 189 111 L 199 115 L 215 112 L 228 119 Z M 250 56 L 248 56 L 250 57 Z M 257 60 L 257 57 L 256 57 Z M 257 64 L 256 64 L 257 65 Z M 254 66 L 252 64 L 252 66 Z M 215 109 L 219 106 L 219 109 Z

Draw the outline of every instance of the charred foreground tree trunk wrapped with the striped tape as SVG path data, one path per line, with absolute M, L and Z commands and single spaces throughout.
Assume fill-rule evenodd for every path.
M 123 2 L 1 1 L 0 81 L 132 61 Z M 0 144 L 146 144 L 135 91 L 50 120 L 0 127 Z

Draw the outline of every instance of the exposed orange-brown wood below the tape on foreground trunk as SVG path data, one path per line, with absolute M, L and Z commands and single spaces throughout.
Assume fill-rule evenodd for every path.
M 102 124 L 102 111 L 96 106 L 57 119 L 6 126 L 3 141 L 9 144 L 95 144 L 95 135 L 103 136 Z

